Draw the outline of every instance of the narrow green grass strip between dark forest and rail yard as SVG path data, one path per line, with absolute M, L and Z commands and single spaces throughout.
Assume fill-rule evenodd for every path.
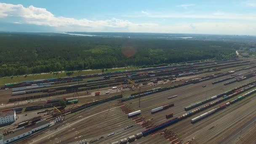
M 133 70 L 133 69 L 139 69 L 139 67 L 127 67 L 127 68 L 116 68 L 116 69 L 107 69 L 107 71 L 104 72 L 116 72 L 121 70 Z M 95 73 L 101 73 L 101 69 L 95 69 L 95 70 L 88 70 L 88 71 L 74 71 L 74 73 L 71 76 L 77 76 L 77 75 L 88 75 L 88 74 L 95 74 Z M 60 77 L 67 77 L 66 72 L 59 72 L 57 75 L 53 73 L 47 73 L 47 74 L 35 74 L 35 75 L 27 75 L 25 77 L 24 75 L 14 76 L 11 77 L 0 77 L 0 85 L 4 85 L 6 83 L 16 83 L 26 80 L 40 80 L 40 79 L 46 79 L 46 78 L 60 78 Z

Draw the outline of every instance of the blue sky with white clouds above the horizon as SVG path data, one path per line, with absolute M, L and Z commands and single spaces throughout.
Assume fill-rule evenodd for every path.
M 0 0 L 0 31 L 256 35 L 256 0 Z

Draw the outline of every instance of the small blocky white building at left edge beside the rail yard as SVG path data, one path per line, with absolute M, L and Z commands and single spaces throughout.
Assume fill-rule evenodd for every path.
M 0 112 L 0 125 L 13 123 L 15 121 L 16 121 L 16 112 L 15 112 L 15 110 Z

